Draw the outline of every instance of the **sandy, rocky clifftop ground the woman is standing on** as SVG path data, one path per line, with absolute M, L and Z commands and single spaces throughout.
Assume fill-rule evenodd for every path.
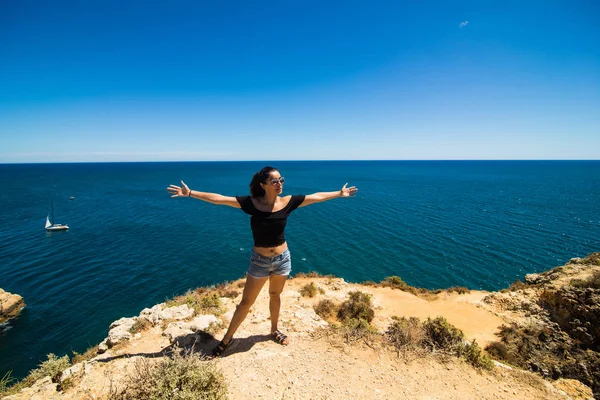
M 598 303 L 589 284 L 600 266 L 588 258 L 577 260 L 494 293 L 425 293 L 334 277 L 295 277 L 282 293 L 280 316 L 290 345 L 281 346 L 269 335 L 269 293 L 263 290 L 231 347 L 207 362 L 223 372 L 230 400 L 590 399 L 589 386 L 598 382 L 600 363 L 594 350 Z M 302 294 L 309 285 L 316 289 L 313 297 Z M 6 399 L 111 398 L 126 387 L 141 362 L 168 359 L 179 350 L 210 354 L 241 299 L 243 281 L 223 286 L 197 289 L 195 298 L 186 294 L 179 304 L 170 301 L 115 321 L 102 349 L 91 349 L 92 354 L 74 361 L 54 381 L 40 379 Z M 385 341 L 348 341 L 330 325 L 335 322 L 315 309 L 323 301 L 339 304 L 357 290 L 371 296 L 371 329 L 380 338 L 394 317 L 441 316 L 464 332 L 468 342 L 488 347 L 512 367 L 496 361 L 491 371 L 476 370 L 458 358 L 401 355 Z M 513 356 L 520 358 L 507 358 L 513 348 L 518 348 Z

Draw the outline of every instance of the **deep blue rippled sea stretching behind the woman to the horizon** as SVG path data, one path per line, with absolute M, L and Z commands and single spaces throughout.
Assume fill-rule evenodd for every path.
M 264 164 L 0 165 L 0 287 L 27 303 L 0 336 L 0 377 L 21 378 L 51 352 L 83 352 L 112 321 L 190 288 L 242 277 L 248 216 L 171 199 L 166 187 L 183 179 L 244 195 Z M 359 188 L 292 214 L 294 272 L 497 290 L 600 251 L 600 161 L 272 164 L 284 194 Z M 44 230 L 51 201 L 68 232 Z

